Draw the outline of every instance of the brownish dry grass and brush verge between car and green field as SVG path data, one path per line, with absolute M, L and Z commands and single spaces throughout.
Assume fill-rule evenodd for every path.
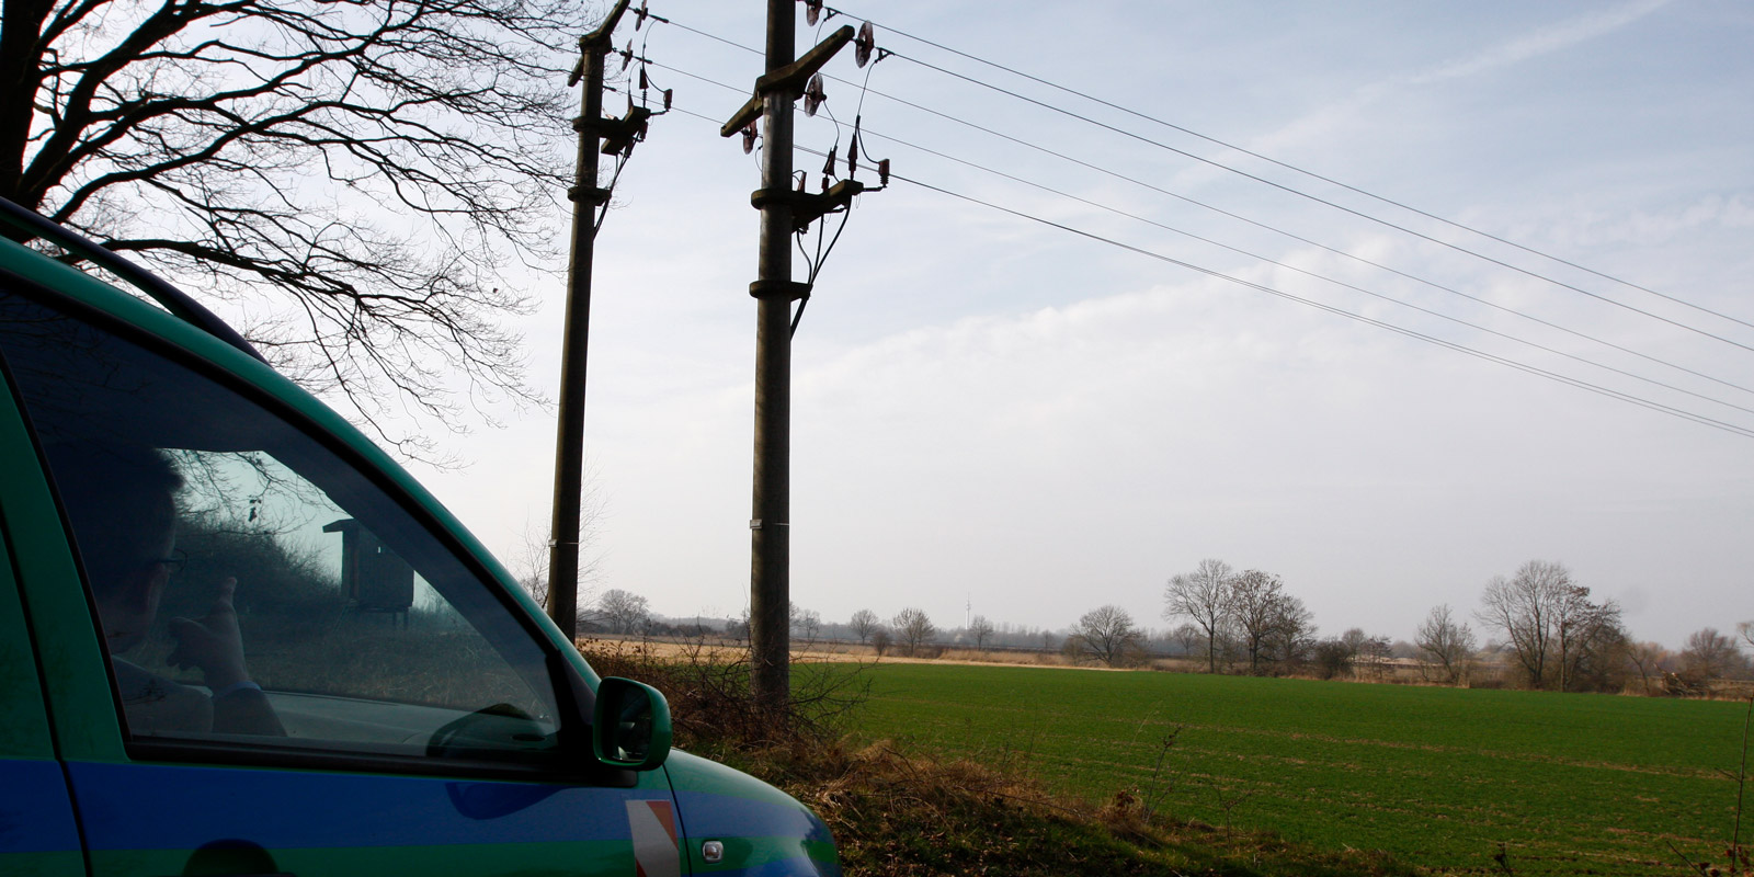
M 679 747 L 761 777 L 821 814 L 849 875 L 1417 873 L 1382 852 L 1175 819 L 1128 789 L 1102 800 L 1059 793 L 1021 759 L 847 737 L 868 719 L 873 675 L 863 665 L 796 667 L 791 721 L 779 726 L 749 710 L 747 663 L 735 651 L 605 640 L 581 649 L 605 675 L 660 688 Z

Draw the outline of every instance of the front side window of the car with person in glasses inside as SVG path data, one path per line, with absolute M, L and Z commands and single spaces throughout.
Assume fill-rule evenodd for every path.
M 554 688 L 526 623 L 409 500 L 296 416 L 9 289 L 0 356 L 72 530 L 130 740 L 554 751 Z

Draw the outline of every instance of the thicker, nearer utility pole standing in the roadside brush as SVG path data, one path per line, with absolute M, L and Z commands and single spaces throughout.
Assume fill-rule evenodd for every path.
M 791 303 L 809 288 L 791 279 L 791 235 L 823 216 L 823 195 L 791 188 L 793 103 L 810 74 L 852 42 L 844 26 L 793 60 L 796 0 L 768 0 L 766 74 L 756 93 L 719 128 L 731 137 L 756 118 L 763 126 L 756 298 L 754 502 L 749 560 L 751 688 L 756 703 L 781 716 L 791 700 Z M 847 195 L 851 198 L 851 195 Z

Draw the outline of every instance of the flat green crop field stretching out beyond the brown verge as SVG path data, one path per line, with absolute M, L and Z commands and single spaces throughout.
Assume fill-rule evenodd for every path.
M 1087 800 L 1126 789 L 1179 819 L 1463 873 L 1505 873 L 1500 849 L 1514 873 L 1686 873 L 1668 844 L 1722 865 L 1747 714 L 1728 702 L 1187 674 L 866 674 L 861 740 L 1023 765 Z

